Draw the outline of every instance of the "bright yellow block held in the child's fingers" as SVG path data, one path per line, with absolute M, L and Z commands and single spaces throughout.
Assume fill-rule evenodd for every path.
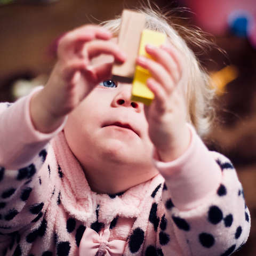
M 150 43 L 157 47 L 160 47 L 166 39 L 166 35 L 153 30 L 143 30 L 141 34 L 141 41 L 139 47 L 139 55 L 143 55 L 150 58 L 150 55 L 146 53 L 145 46 Z M 132 82 L 132 101 L 140 101 L 145 105 L 150 105 L 151 101 L 154 99 L 154 93 L 148 89 L 146 85 L 147 79 L 151 76 L 149 71 L 140 66 L 136 67 L 135 75 Z

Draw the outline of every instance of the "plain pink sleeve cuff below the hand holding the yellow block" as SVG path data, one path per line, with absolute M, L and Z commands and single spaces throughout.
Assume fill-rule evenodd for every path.
M 153 162 L 165 179 L 172 202 L 181 211 L 194 209 L 216 194 L 222 173 L 193 126 L 189 125 L 191 141 L 186 152 L 172 162 Z

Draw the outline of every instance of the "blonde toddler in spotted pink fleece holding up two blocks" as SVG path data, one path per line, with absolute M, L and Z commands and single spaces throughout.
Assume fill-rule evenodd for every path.
M 120 19 L 67 33 L 46 85 L 0 105 L 1 255 L 227 256 L 246 242 L 234 167 L 197 135 L 207 75 L 162 14 L 143 13 L 168 41 L 137 58 L 150 106 L 111 80 Z

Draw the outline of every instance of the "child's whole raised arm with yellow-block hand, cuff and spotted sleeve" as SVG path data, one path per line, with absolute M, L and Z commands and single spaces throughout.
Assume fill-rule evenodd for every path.
M 250 214 L 233 165 L 210 153 L 185 122 L 182 83 L 186 69 L 171 45 L 146 47 L 155 61 L 138 58 L 152 74 L 155 94 L 145 107 L 156 167 L 165 178 L 158 209 L 157 248 L 165 255 L 230 255 L 246 242 Z M 168 163 L 166 163 L 168 162 Z M 157 219 L 156 218 L 156 219 Z

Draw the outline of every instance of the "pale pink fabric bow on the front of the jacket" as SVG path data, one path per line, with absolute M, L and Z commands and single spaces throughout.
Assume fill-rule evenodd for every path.
M 113 240 L 108 242 L 110 235 L 109 226 L 105 225 L 104 232 L 100 235 L 91 228 L 86 228 L 79 245 L 79 256 L 122 256 L 126 242 Z

